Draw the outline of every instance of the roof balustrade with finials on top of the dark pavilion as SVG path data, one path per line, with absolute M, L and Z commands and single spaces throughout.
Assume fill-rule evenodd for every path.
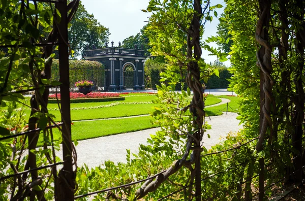
M 104 56 L 104 55 L 127 55 L 127 56 L 144 56 L 144 50 L 141 49 L 127 49 L 120 47 L 107 47 L 107 48 L 99 48 L 86 50 L 86 57 L 90 56 Z

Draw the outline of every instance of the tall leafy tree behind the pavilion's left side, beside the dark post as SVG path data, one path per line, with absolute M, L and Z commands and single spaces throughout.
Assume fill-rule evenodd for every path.
M 109 35 L 109 29 L 100 24 L 80 3 L 68 33 L 74 56 L 84 55 L 87 45 L 104 47 L 105 42 L 109 41 Z

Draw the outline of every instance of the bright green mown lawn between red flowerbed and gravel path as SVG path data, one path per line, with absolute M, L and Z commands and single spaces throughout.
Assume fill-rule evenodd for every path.
M 133 96 L 135 97 L 135 96 Z M 149 96 L 146 96 L 149 97 Z M 214 105 L 221 102 L 222 98 L 228 98 L 231 100 L 229 105 L 233 108 L 230 109 L 230 112 L 236 112 L 238 105 L 238 97 L 232 96 L 208 96 L 206 100 L 206 105 Z M 131 98 L 131 97 L 130 97 Z M 142 98 L 142 97 L 141 97 Z M 151 97 L 150 97 L 151 98 Z M 133 101 L 132 101 L 133 102 Z M 101 119 L 95 121 L 76 121 L 72 125 L 72 139 L 73 140 L 85 140 L 98 138 L 103 136 L 115 135 L 119 133 L 126 133 L 132 131 L 138 131 L 148 128 L 156 127 L 156 125 L 151 124 L 153 120 L 150 116 L 144 117 L 131 117 L 131 118 L 122 118 L 122 119 L 106 119 L 112 117 L 124 117 L 124 116 L 133 116 L 148 114 L 153 112 L 153 106 L 155 104 L 137 104 L 137 105 L 118 105 L 109 108 L 100 108 L 100 109 L 87 109 L 87 110 L 72 110 L 71 117 L 72 120 L 80 119 Z M 222 111 L 226 111 L 226 104 L 220 106 L 206 108 L 205 111 L 209 116 L 221 115 Z M 59 111 L 51 111 L 52 114 L 59 116 Z M 59 120 L 56 120 L 59 121 Z M 55 139 L 59 138 L 59 132 L 54 129 Z M 56 137 L 57 136 L 57 137 Z M 39 140 L 39 145 L 42 145 L 42 138 Z

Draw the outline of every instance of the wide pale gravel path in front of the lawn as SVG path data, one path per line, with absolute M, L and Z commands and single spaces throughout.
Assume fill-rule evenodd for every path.
M 203 146 L 210 149 L 221 142 L 229 131 L 237 131 L 242 128 L 238 125 L 236 113 L 228 113 L 228 115 L 220 115 L 206 118 L 205 121 L 211 125 L 203 137 Z M 128 126 L 128 125 L 127 125 Z M 77 164 L 80 166 L 84 163 L 89 168 L 103 164 L 105 160 L 113 162 L 126 162 L 126 149 L 130 149 L 131 153 L 137 153 L 139 144 L 147 144 L 147 138 L 150 134 L 154 134 L 160 128 L 151 128 L 136 132 L 112 135 L 107 137 L 89 139 L 79 141 L 76 146 L 78 153 Z M 207 138 L 207 133 L 210 139 Z

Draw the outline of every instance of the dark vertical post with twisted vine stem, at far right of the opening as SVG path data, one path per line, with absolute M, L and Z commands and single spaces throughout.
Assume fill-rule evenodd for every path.
M 272 139 L 272 120 L 271 113 L 271 91 L 272 91 L 272 64 L 271 52 L 272 47 L 268 42 L 268 27 L 270 21 L 271 0 L 259 0 L 259 19 L 256 25 L 255 38 L 257 43 L 261 46 L 256 53 L 257 64 L 260 67 L 260 127 L 259 139 L 256 144 L 256 151 L 263 150 L 265 135 L 267 129 L 270 131 L 269 140 Z M 267 118 L 268 117 L 268 118 Z M 260 173 L 259 173 L 259 200 L 264 199 L 264 158 L 259 159 Z

